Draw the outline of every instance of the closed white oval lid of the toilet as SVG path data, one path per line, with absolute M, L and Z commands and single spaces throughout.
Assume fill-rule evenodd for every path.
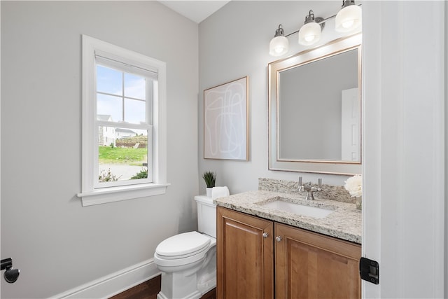
M 155 252 L 163 258 L 185 258 L 208 248 L 211 240 L 199 232 L 184 232 L 160 242 Z

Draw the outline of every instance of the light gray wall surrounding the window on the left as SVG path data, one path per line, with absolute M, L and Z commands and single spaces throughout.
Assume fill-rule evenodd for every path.
M 167 62 L 167 194 L 81 207 L 81 34 Z M 1 298 L 48 298 L 197 227 L 198 26 L 157 1 L 1 1 Z M 45 132 L 45 134 L 41 134 Z

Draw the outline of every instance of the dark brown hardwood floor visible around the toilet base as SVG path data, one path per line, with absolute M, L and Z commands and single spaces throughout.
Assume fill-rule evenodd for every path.
M 159 275 L 109 299 L 156 299 L 160 292 L 160 284 L 161 277 Z M 201 299 L 216 299 L 216 288 L 204 294 Z

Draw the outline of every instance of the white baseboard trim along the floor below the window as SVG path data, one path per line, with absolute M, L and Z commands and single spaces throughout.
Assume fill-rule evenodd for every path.
M 151 258 L 50 298 L 111 298 L 113 295 L 137 286 L 137 284 L 141 284 L 159 274 L 160 270 Z

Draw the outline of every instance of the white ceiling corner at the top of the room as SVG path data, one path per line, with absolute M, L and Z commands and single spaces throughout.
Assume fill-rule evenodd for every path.
M 159 0 L 159 2 L 173 11 L 183 15 L 184 17 L 192 20 L 193 22 L 200 23 L 209 17 L 219 8 L 228 4 L 229 1 L 221 0 Z

